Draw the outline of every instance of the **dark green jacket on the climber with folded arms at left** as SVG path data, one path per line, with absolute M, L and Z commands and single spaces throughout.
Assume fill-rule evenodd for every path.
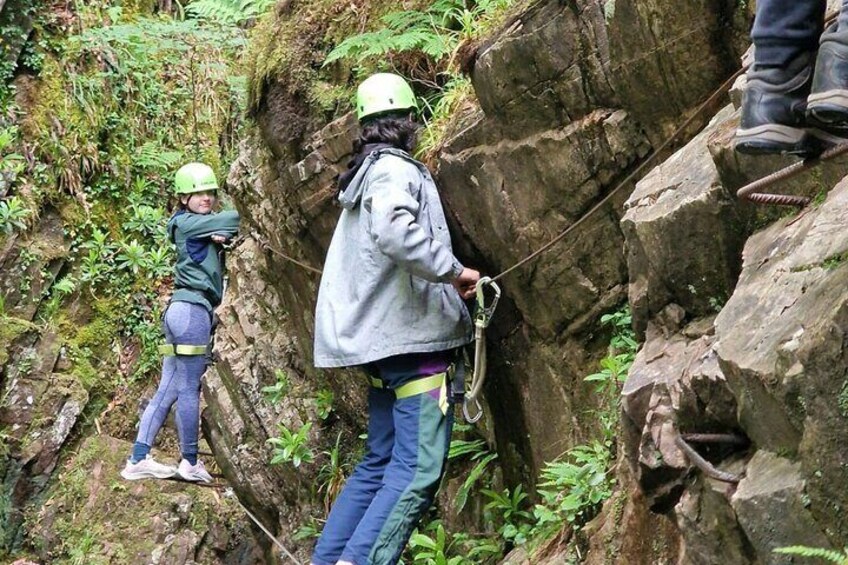
M 195 214 L 180 210 L 168 222 L 168 234 L 177 246 L 172 301 L 192 302 L 212 310 L 221 303 L 223 293 L 223 247 L 211 236 L 231 238 L 238 233 L 239 215 L 235 210 L 218 214 Z

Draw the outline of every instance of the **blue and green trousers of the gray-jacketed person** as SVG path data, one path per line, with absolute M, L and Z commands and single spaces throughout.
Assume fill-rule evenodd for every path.
M 345 484 L 315 547 L 315 565 L 397 563 L 433 502 L 447 459 L 453 410 L 441 379 L 386 370 L 368 393 L 367 453 Z M 436 384 L 439 380 L 441 384 Z M 413 383 L 429 388 L 404 396 Z M 431 385 L 434 385 L 431 387 Z

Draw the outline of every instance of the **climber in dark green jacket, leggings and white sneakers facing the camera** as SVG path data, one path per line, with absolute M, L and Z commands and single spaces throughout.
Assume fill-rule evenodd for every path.
M 197 458 L 200 379 L 206 370 L 213 310 L 223 294 L 222 244 L 238 232 L 239 215 L 234 210 L 213 212 L 218 181 L 207 165 L 185 165 L 177 171 L 175 184 L 180 209 L 168 222 L 168 234 L 176 246 L 177 265 L 175 290 L 163 322 L 162 379 L 141 417 L 133 452 L 121 476 L 136 480 L 179 475 L 189 481 L 210 482 L 212 477 Z M 182 452 L 178 467 L 159 463 L 150 455 L 174 404 Z

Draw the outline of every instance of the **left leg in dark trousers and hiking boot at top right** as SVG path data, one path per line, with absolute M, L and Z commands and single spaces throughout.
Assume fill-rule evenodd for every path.
M 810 153 L 820 144 L 806 130 L 807 96 L 823 25 L 823 0 L 757 3 L 751 38 L 754 64 L 736 132 L 741 153 Z

